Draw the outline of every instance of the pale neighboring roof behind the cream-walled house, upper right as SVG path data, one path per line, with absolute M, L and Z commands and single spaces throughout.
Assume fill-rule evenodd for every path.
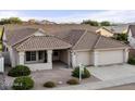
M 115 26 L 103 26 L 103 27 L 114 34 L 122 34 L 127 31 L 128 25 L 115 25 Z

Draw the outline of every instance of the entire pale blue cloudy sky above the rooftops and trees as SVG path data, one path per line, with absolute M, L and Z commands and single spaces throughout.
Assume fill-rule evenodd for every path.
M 22 20 L 49 20 L 57 23 L 79 23 L 83 20 L 135 22 L 135 10 L 0 10 L 0 18 L 17 16 Z

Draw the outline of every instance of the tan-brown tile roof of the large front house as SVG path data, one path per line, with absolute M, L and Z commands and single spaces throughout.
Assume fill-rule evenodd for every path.
M 17 28 L 16 28 L 16 27 Z M 66 49 L 93 50 L 127 47 L 120 41 L 96 34 L 95 27 L 88 25 L 32 25 L 32 26 L 5 26 L 8 41 L 14 45 L 17 51 Z M 39 28 L 45 36 L 33 36 Z M 52 36 L 53 35 L 53 36 Z

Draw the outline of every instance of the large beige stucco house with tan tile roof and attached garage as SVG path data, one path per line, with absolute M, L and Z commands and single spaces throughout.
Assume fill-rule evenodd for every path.
M 87 25 L 9 25 L 3 41 L 11 65 L 27 65 L 32 71 L 51 70 L 56 61 L 69 67 L 127 62 L 128 47 L 96 30 Z

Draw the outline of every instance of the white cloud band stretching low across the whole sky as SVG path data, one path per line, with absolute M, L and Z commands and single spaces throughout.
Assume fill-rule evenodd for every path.
M 65 11 L 66 12 L 66 11 Z M 26 15 L 25 12 L 20 11 L 0 11 L 0 18 L 2 17 L 11 17 L 17 16 L 22 20 L 37 18 L 37 20 L 50 20 L 58 23 L 69 23 L 69 22 L 82 22 L 83 20 L 95 20 L 95 21 L 110 21 L 110 22 L 119 22 L 119 23 L 127 23 L 135 22 L 135 10 L 112 10 L 112 11 L 100 11 L 100 12 L 85 12 L 85 13 L 72 13 L 68 16 L 32 16 Z

